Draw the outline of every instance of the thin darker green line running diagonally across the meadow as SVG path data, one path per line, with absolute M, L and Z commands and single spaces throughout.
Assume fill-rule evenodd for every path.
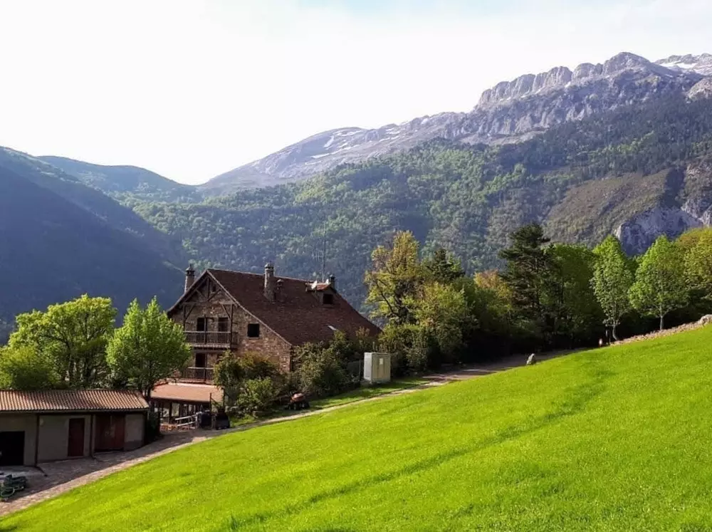
M 367 489 L 377 484 L 394 481 L 402 476 L 426 471 L 436 466 L 440 466 L 441 464 L 444 464 L 448 461 L 463 457 L 466 454 L 480 452 L 484 449 L 488 449 L 489 447 L 493 447 L 503 442 L 507 442 L 508 440 L 523 437 L 527 434 L 531 434 L 540 429 L 548 427 L 549 425 L 554 424 L 555 422 L 558 422 L 562 419 L 565 419 L 566 417 L 578 414 L 579 412 L 582 412 L 582 410 L 584 410 L 585 407 L 592 400 L 602 394 L 602 392 L 605 390 L 605 381 L 609 377 L 614 375 L 613 372 L 609 370 L 604 370 L 603 368 L 599 367 L 594 360 L 592 360 L 588 365 L 592 366 L 591 380 L 585 382 L 582 385 L 574 387 L 571 390 L 570 395 L 565 397 L 565 400 L 561 402 L 561 404 L 558 405 L 552 412 L 548 412 L 547 414 L 544 414 L 540 417 L 527 419 L 521 423 L 514 424 L 513 426 L 507 427 L 501 432 L 498 432 L 497 434 L 494 434 L 491 437 L 483 439 L 476 444 L 466 447 L 459 447 L 456 449 L 450 449 L 449 451 L 435 454 L 434 456 L 416 461 L 413 464 L 403 466 L 393 471 L 386 471 L 383 473 L 372 475 L 365 479 L 353 481 L 349 484 L 345 484 L 343 486 L 329 489 L 319 494 L 315 494 L 303 501 L 288 504 L 283 508 L 279 508 L 273 511 L 255 513 L 252 516 L 248 516 L 241 519 L 231 516 L 229 522 L 229 530 L 240 530 L 245 526 L 264 523 L 273 518 L 287 517 L 295 513 L 299 513 L 300 511 L 303 511 L 303 509 L 307 508 L 312 504 L 318 504 L 322 501 L 328 501 L 329 499 L 336 499 L 337 497 L 352 494 L 356 491 Z

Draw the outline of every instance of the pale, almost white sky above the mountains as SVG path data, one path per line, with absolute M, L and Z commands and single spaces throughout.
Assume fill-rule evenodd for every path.
M 712 52 L 711 19 L 709 0 L 0 0 L 0 146 L 197 184 L 524 73 Z

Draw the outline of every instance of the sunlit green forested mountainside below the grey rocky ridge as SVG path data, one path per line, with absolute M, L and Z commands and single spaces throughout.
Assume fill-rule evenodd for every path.
M 510 231 L 530 221 L 588 244 L 619 231 L 642 251 L 658 234 L 709 223 L 711 160 L 712 100 L 671 95 L 525 142 L 434 140 L 303 182 L 135 209 L 199 266 L 259 271 L 275 260 L 278 273 L 313 277 L 325 249 L 326 269 L 359 304 L 370 251 L 395 229 L 425 251 L 445 246 L 469 272 L 498 266 Z

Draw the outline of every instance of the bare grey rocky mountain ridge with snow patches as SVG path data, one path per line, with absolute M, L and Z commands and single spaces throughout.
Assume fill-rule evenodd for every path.
M 712 56 L 671 56 L 655 63 L 619 53 L 604 63 L 557 66 L 485 90 L 468 113 L 439 113 L 377 129 L 345 127 L 308 137 L 261 160 L 211 179 L 216 195 L 305 179 L 434 138 L 465 143 L 526 140 L 563 122 L 676 95 L 711 95 Z

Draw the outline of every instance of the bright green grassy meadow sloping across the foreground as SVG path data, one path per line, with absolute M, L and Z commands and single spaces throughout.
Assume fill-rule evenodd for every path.
M 229 434 L 17 531 L 709 531 L 712 327 Z

